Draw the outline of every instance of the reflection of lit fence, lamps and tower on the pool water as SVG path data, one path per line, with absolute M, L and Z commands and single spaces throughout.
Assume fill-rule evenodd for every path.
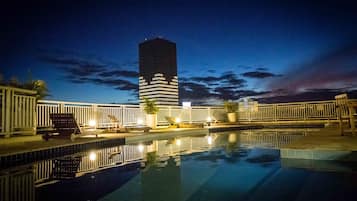
M 267 154 L 255 157 L 253 154 L 248 157 L 251 151 L 246 148 L 277 149 L 303 135 L 271 130 L 211 133 L 121 145 L 40 161 L 27 167 L 2 171 L 0 201 L 35 200 L 35 190 L 37 200 L 46 200 L 47 196 L 66 191 L 74 194 L 68 195 L 66 200 L 83 200 L 83 197 L 97 200 L 128 181 L 137 181 L 132 179 L 137 175 L 140 175 L 141 184 L 138 193 L 145 195 L 142 200 L 151 200 L 150 196 L 155 194 L 173 195 L 170 200 L 181 200 L 181 191 L 187 191 L 181 189 L 182 161 L 197 161 L 202 165 L 200 168 L 206 171 L 213 171 L 212 167 L 218 167 L 222 161 L 234 164 L 242 158 L 248 163 L 274 162 L 279 159 L 276 153 L 274 156 Z M 21 188 L 14 182 L 20 182 Z M 168 188 L 167 184 L 171 187 Z M 56 199 L 61 200 L 61 197 L 51 198 Z

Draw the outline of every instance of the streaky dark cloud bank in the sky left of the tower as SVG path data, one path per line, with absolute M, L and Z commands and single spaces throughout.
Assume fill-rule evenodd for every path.
M 119 65 L 94 56 L 81 57 L 79 54 L 65 51 L 42 51 L 38 58 L 42 62 L 56 66 L 63 72 L 63 78 L 72 83 L 91 83 L 129 91 L 134 94 L 138 92 L 138 84 L 132 81 L 137 79 L 138 72 L 127 70 L 127 66 L 135 65 L 137 62 Z M 120 66 L 126 66 L 126 69 L 124 70 Z

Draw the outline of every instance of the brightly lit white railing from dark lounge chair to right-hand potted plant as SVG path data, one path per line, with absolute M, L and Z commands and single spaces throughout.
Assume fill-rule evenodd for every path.
M 50 127 L 50 113 L 73 113 L 77 123 L 86 125 L 96 120 L 98 127 L 110 125 L 108 115 L 119 120 L 120 125 L 136 124 L 139 119 L 145 120 L 145 113 L 139 105 L 97 104 L 65 101 L 40 100 L 37 104 L 37 126 Z M 217 119 L 224 113 L 222 107 L 195 106 L 183 109 L 180 106 L 160 106 L 157 114 L 159 124 L 167 124 L 165 117 L 179 117 L 182 122 L 205 122 L 208 117 Z

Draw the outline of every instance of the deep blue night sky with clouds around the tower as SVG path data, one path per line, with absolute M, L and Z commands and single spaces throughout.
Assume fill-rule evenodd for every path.
M 9 1 L 10 2 L 10 1 Z M 0 73 L 46 99 L 137 103 L 138 44 L 177 45 L 180 98 L 219 104 L 357 98 L 354 1 L 11 1 Z

